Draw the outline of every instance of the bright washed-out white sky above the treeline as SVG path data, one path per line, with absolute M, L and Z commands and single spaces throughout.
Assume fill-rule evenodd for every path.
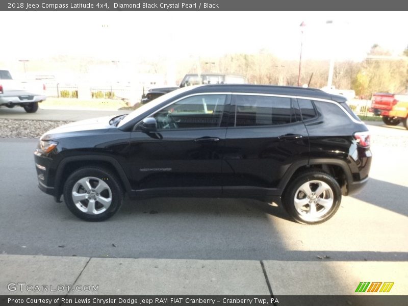
M 304 58 L 361 60 L 373 43 L 400 54 L 407 20 L 407 12 L 0 12 L 0 55 L 132 60 L 267 49 L 298 59 L 304 21 Z

